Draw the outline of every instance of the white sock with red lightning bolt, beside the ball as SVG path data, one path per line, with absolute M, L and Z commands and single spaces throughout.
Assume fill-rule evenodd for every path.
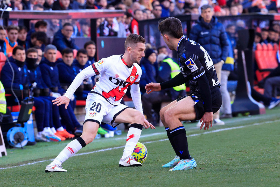
M 135 128 L 135 127 L 130 127 L 128 132 L 127 132 L 127 137 L 126 137 L 126 144 L 123 150 L 123 156 L 122 159 L 124 159 L 127 156 L 131 156 L 139 138 L 141 135 L 142 130 Z

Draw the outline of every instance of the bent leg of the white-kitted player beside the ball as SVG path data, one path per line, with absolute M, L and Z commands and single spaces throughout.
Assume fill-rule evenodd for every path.
M 118 107 L 125 107 L 125 105 L 119 105 Z M 131 125 L 127 132 L 125 148 L 123 150 L 123 155 L 119 161 L 119 166 L 141 166 L 142 164 L 135 161 L 132 158 L 131 154 L 140 138 L 144 123 L 144 115 L 133 108 L 128 107 L 123 109 L 124 110 L 115 117 L 114 123 L 130 123 Z M 115 110 L 118 109 L 115 108 Z

